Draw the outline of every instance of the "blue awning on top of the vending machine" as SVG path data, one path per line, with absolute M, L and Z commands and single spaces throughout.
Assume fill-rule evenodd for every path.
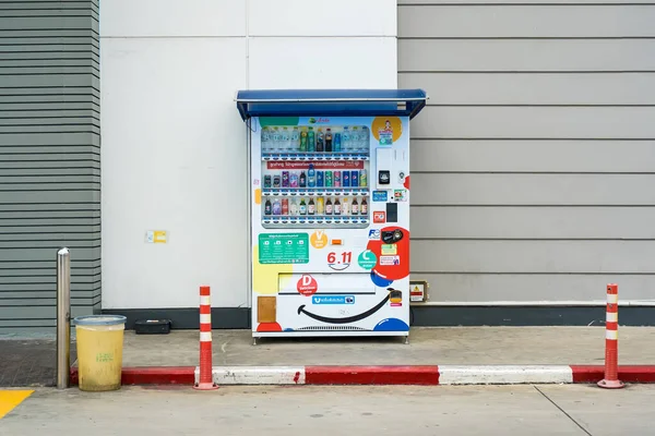
M 422 89 L 250 89 L 235 100 L 251 117 L 416 117 L 426 106 Z

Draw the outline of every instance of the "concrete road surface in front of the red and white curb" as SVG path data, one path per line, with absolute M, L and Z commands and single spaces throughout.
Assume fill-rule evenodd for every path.
M 645 436 L 654 386 L 37 389 L 0 434 Z

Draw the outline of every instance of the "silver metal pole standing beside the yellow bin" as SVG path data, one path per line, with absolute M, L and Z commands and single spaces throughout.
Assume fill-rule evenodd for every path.
M 57 389 L 70 387 L 71 371 L 71 254 L 57 252 Z

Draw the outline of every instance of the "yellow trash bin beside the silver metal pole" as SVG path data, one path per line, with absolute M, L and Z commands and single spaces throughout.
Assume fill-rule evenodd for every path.
M 74 318 L 80 390 L 120 389 L 126 317 L 86 315 Z

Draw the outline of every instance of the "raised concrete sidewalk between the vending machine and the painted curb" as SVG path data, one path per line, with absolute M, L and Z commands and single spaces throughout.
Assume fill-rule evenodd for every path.
M 413 327 L 397 338 L 260 339 L 249 330 L 213 330 L 213 363 L 231 365 L 599 365 L 604 327 Z M 126 331 L 124 366 L 195 366 L 199 334 Z M 619 363 L 655 364 L 655 327 L 619 328 Z

